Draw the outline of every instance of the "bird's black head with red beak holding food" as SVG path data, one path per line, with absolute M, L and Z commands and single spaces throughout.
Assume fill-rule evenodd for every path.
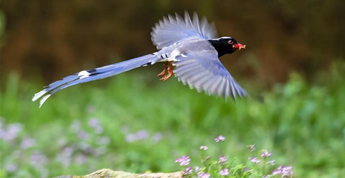
M 217 50 L 218 57 L 223 56 L 224 54 L 232 54 L 237 49 L 246 49 L 246 45 L 240 44 L 231 37 L 209 39 L 209 42 L 211 42 L 212 46 Z

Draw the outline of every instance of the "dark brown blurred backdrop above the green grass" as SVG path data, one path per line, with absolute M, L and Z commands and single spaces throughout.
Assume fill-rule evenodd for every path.
M 342 0 L 1 0 L 1 76 L 17 72 L 47 81 L 155 51 L 152 26 L 163 16 L 198 12 L 218 34 L 246 44 L 222 58 L 235 76 L 312 79 L 344 60 Z M 159 66 L 161 67 L 161 66 Z M 157 70 L 159 72 L 159 70 Z M 1 77 L 2 79 L 6 79 Z

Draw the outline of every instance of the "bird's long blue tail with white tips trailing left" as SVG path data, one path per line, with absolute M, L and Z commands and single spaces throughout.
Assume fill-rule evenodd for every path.
M 42 104 L 45 103 L 45 101 L 58 90 L 62 90 L 63 88 L 74 86 L 79 83 L 85 83 L 88 81 L 103 79 L 109 76 L 120 74 L 122 72 L 133 70 L 137 67 L 150 65 L 150 61 L 152 61 L 152 59 L 154 58 L 155 58 L 155 55 L 147 54 L 145 56 L 133 58 L 131 60 L 125 60 L 123 62 L 115 63 L 112 65 L 106 65 L 104 67 L 99 67 L 92 70 L 83 70 L 76 74 L 66 76 L 60 81 L 55 81 L 54 83 L 50 83 L 49 86 L 46 86 L 44 90 L 41 90 L 40 92 L 36 93 L 33 96 L 32 101 L 34 102 L 35 100 L 42 97 L 42 99 L 40 100 L 40 107 L 41 107 Z

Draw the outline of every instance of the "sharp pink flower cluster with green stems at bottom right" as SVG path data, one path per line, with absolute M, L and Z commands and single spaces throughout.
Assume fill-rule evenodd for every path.
M 224 136 L 218 136 L 214 139 L 216 143 L 224 142 Z M 220 145 L 222 146 L 222 145 Z M 255 145 L 248 145 L 249 152 L 255 151 Z M 277 169 L 273 170 L 272 167 L 266 168 L 267 165 L 275 165 L 275 160 L 268 160 L 271 158 L 271 152 L 263 149 L 262 152 L 256 154 L 257 156 L 251 156 L 248 159 L 251 164 L 249 165 L 233 165 L 234 159 L 228 161 L 228 157 L 224 156 L 220 149 L 220 154 L 218 160 L 212 160 L 211 156 L 204 156 L 204 150 L 209 147 L 202 145 L 199 149 L 202 150 L 201 163 L 204 167 L 195 166 L 193 169 L 191 166 L 184 167 L 184 177 L 198 177 L 198 178 L 209 178 L 209 177 L 229 177 L 230 175 L 238 175 L 239 177 L 275 177 L 275 175 L 281 175 L 282 177 L 292 177 L 294 172 L 291 166 L 280 165 Z M 182 156 L 175 160 L 175 163 L 179 163 L 181 166 L 189 165 L 191 159 L 189 156 Z M 253 164 L 254 163 L 254 164 Z M 267 174 L 268 170 L 273 170 L 271 174 Z

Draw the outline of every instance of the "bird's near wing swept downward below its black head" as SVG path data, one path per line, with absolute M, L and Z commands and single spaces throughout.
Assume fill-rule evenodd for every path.
M 205 42 L 207 42 L 205 40 Z M 225 67 L 220 63 L 216 50 L 208 44 L 209 49 L 186 52 L 177 56 L 173 63 L 175 76 L 184 85 L 195 88 L 198 92 L 216 95 L 226 99 L 231 96 L 236 101 L 236 96 L 245 97 L 246 90 L 232 78 Z M 203 46 L 200 43 L 200 46 Z

